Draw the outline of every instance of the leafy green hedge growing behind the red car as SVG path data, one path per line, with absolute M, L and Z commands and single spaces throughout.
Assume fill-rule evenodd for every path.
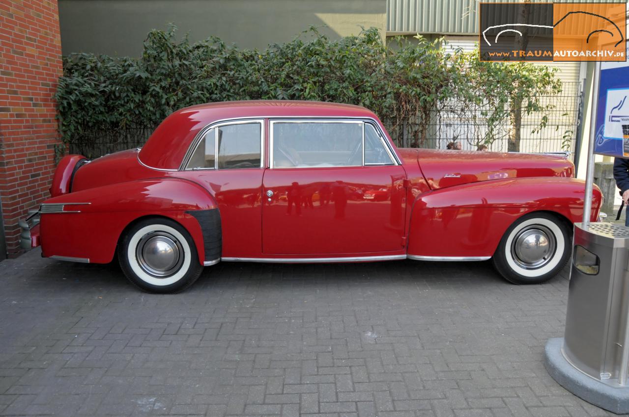
M 537 97 L 561 90 L 547 67 L 479 62 L 477 52 L 446 53 L 442 40 L 421 36 L 416 45 L 387 48 L 374 28 L 334 41 L 311 28 L 311 40 L 265 50 L 239 49 L 214 37 L 178 41 L 175 31 L 151 31 L 140 58 L 65 57 L 55 97 L 62 139 L 71 143 L 89 140 L 87 133 L 96 130 L 157 126 L 193 104 L 282 99 L 359 104 L 391 129 L 413 119 L 417 146 L 426 139 L 431 112 L 457 100 L 461 114 L 486 109 L 482 117 L 490 129 L 477 141 L 490 144 L 496 139 L 491 126 L 506 119 L 516 124 L 518 112 L 542 112 L 543 126 L 548 109 Z

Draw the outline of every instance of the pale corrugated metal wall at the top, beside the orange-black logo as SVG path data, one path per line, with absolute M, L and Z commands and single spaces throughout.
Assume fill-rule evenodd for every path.
M 499 3 L 518 2 L 521 0 L 500 0 Z M 534 0 L 533 3 L 545 2 Z M 626 3 L 626 0 L 589 0 L 585 3 Z M 478 33 L 478 8 L 477 0 L 387 0 L 387 34 L 475 34 Z

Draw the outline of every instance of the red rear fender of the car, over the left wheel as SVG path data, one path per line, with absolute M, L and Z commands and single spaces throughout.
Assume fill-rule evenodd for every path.
M 63 213 L 41 215 L 42 255 L 109 263 L 123 230 L 134 220 L 162 216 L 179 222 L 192 236 L 203 264 L 203 234 L 198 220 L 186 211 L 216 208 L 197 183 L 179 178 L 138 180 L 89 188 L 44 202 L 64 205 Z M 84 203 L 84 204 L 69 204 Z

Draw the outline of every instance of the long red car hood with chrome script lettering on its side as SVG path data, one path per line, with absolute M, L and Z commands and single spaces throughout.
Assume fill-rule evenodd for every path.
M 560 156 L 435 149 L 399 151 L 404 163 L 419 163 L 433 190 L 503 178 L 574 176 L 574 164 Z

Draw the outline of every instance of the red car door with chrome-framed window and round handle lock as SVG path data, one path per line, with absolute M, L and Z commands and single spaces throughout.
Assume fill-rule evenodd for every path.
M 379 127 L 362 120 L 270 121 L 262 252 L 281 257 L 404 249 L 404 178 Z

